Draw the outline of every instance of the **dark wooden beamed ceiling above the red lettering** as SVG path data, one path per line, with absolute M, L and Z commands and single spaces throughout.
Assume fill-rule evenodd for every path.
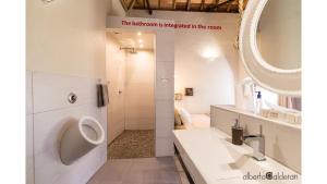
M 131 9 L 239 13 L 240 0 L 120 0 L 125 11 Z M 247 0 L 242 0 L 244 5 Z

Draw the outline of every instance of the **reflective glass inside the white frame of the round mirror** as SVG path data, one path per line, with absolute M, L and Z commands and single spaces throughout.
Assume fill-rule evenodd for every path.
M 257 46 L 263 59 L 282 70 L 301 69 L 301 2 L 269 0 L 259 17 Z

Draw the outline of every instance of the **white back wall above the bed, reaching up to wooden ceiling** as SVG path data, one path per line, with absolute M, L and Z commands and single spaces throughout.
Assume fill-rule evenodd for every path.
M 185 87 L 194 88 L 194 96 L 183 97 L 181 101 L 191 113 L 209 112 L 210 105 L 235 102 L 238 51 L 233 42 L 238 14 L 154 11 L 148 15 L 146 11 L 132 10 L 128 15 L 222 26 L 219 32 L 175 29 L 174 88 L 178 93 L 184 93 Z

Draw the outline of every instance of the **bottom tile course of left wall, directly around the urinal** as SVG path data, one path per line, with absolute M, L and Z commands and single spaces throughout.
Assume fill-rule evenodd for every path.
M 59 157 L 60 135 L 68 122 L 75 122 L 83 115 L 100 119 L 100 111 L 84 105 L 34 115 L 35 183 L 86 183 L 105 163 L 106 146 L 96 147 L 72 165 L 64 165 Z M 104 128 L 106 122 L 101 122 Z M 56 179 L 56 180 L 55 180 Z

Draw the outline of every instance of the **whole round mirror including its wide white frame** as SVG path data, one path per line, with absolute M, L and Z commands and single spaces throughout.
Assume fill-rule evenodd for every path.
M 249 0 L 240 29 L 247 74 L 281 95 L 301 95 L 301 1 Z

